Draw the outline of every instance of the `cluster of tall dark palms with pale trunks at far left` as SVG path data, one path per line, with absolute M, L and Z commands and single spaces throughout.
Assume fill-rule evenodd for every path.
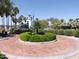
M 11 0 L 0 0 L 0 16 L 2 18 L 3 28 L 5 28 L 5 18 L 7 29 L 9 29 L 9 18 L 16 24 L 16 15 L 19 13 L 19 9 L 14 6 Z

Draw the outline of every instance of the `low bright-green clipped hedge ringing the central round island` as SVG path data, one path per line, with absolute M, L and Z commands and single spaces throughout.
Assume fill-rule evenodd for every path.
M 40 34 L 30 35 L 29 33 L 22 33 L 20 34 L 20 39 L 23 41 L 30 41 L 30 42 L 46 42 L 55 40 L 56 35 L 53 33 L 45 33 L 44 35 Z

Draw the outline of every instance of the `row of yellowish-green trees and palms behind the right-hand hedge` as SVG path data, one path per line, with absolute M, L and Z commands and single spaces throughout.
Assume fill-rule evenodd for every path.
M 79 28 L 79 18 L 69 19 L 68 21 L 58 18 L 49 18 L 47 20 L 50 20 L 52 22 L 53 24 L 52 27 L 54 28 L 69 28 L 69 29 Z

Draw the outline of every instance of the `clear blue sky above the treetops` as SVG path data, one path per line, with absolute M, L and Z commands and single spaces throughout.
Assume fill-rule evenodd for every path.
M 32 14 L 37 18 L 78 18 L 79 0 L 13 0 L 19 15 Z

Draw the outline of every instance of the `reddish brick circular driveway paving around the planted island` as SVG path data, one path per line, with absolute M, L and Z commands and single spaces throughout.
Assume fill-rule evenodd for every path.
M 0 41 L 0 51 L 18 56 L 55 56 L 72 52 L 79 47 L 77 43 L 79 42 L 66 36 L 57 36 L 54 43 L 24 45 L 17 37 L 11 37 Z

